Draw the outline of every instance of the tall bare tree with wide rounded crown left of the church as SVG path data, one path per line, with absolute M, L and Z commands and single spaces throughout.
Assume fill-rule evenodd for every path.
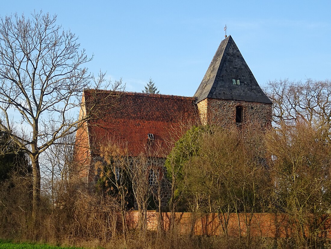
M 56 24 L 56 16 L 34 12 L 30 18 L 0 19 L 0 129 L 30 157 L 34 215 L 40 154 L 81 124 L 72 114 L 92 77 L 83 66 L 91 58 L 79 47 L 75 34 Z

